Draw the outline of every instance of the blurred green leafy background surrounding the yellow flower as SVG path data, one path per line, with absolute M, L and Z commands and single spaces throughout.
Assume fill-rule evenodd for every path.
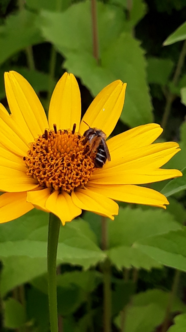
M 83 212 L 61 227 L 59 332 L 103 331 L 102 262 L 106 258 L 112 272 L 112 332 L 165 332 L 167 307 L 168 331 L 183 332 L 186 1 L 102 0 L 97 1 L 97 17 L 98 61 L 93 57 L 90 0 L 0 0 L 1 102 L 8 107 L 3 74 L 9 70 L 31 83 L 46 112 L 65 70 L 78 79 L 83 114 L 103 87 L 121 79 L 127 82 L 126 100 L 114 134 L 153 121 L 163 124 L 160 141 L 178 141 L 182 149 L 165 167 L 183 169 L 183 177 L 152 184 L 167 197 L 173 196 L 167 211 L 120 203 L 119 215 L 108 220 L 108 250 L 101 250 L 98 215 Z M 35 209 L 0 224 L 2 332 L 50 331 L 47 227 L 48 214 Z M 171 302 L 174 270 L 182 275 Z

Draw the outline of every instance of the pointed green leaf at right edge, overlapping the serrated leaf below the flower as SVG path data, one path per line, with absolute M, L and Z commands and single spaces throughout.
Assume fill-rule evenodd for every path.
M 186 271 L 185 242 L 186 227 L 183 230 L 138 240 L 133 247 L 161 264 Z

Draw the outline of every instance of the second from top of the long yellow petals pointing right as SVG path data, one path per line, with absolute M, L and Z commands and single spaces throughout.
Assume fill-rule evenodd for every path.
M 126 151 L 123 155 L 115 150 L 110 153 L 111 161 L 96 170 L 94 174 L 122 172 L 147 166 L 158 168 L 165 165 L 179 151 L 179 145 L 175 142 L 151 144 Z

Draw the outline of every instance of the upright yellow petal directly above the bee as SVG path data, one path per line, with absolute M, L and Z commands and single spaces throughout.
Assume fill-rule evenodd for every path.
M 87 124 L 103 130 L 107 137 L 111 134 L 123 110 L 126 86 L 117 80 L 98 93 L 81 121 L 81 134 L 88 129 Z

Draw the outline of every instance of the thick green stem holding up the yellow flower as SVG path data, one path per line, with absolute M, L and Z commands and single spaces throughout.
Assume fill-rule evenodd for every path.
M 56 215 L 50 213 L 48 232 L 48 293 L 51 332 L 58 332 L 57 321 L 57 290 L 56 290 L 56 257 L 59 238 L 60 220 Z

